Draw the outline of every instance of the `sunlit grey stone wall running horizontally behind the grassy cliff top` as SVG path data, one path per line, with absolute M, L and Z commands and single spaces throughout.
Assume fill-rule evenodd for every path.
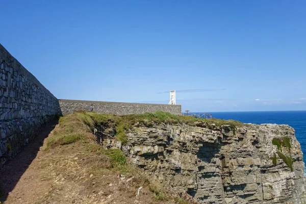
M 117 102 L 89 101 L 89 100 L 65 100 L 65 99 L 60 99 L 59 102 L 63 115 L 80 110 L 89 111 L 91 104 L 93 104 L 93 111 L 97 113 L 106 113 L 114 115 L 154 113 L 156 111 L 164 111 L 178 115 L 182 114 L 181 105 L 133 104 L 133 103 L 117 103 Z

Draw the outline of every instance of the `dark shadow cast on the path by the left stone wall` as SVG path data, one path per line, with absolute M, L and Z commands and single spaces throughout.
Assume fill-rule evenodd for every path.
M 0 169 L 0 201 L 6 201 L 8 195 L 17 185 L 20 177 L 28 169 L 36 158 L 43 141 L 58 124 L 58 120 L 46 123 L 39 134 L 29 144 L 25 145 L 19 154 L 10 161 L 7 161 Z

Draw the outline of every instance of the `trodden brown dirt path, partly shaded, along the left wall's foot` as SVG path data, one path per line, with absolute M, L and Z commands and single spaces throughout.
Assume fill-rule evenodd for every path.
M 24 198 L 28 196 L 42 197 L 48 190 L 47 182 L 39 181 L 39 172 L 33 169 L 33 163 L 40 157 L 40 148 L 43 140 L 54 129 L 56 122 L 52 122 L 43 128 L 41 133 L 25 146 L 16 158 L 9 161 L 0 170 L 0 178 L 3 189 L 1 201 L 4 203 L 28 203 Z M 30 199 L 31 200 L 31 199 Z

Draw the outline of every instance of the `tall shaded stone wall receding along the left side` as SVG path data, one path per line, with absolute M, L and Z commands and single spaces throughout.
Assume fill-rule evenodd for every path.
M 58 99 L 0 44 L 0 168 L 56 114 Z

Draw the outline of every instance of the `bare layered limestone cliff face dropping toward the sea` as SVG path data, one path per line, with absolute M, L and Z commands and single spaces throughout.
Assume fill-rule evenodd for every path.
M 135 165 L 199 203 L 306 203 L 302 151 L 288 125 L 137 125 L 127 136 L 122 149 Z M 284 137 L 293 171 L 272 144 Z

